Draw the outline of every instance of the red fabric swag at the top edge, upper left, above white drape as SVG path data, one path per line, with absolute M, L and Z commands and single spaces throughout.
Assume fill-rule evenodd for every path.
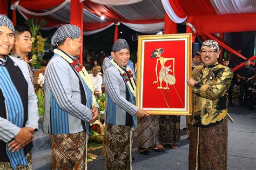
M 17 2 L 16 0 L 12 0 L 11 4 L 14 4 Z M 65 2 L 65 0 L 36 0 L 36 1 L 31 1 L 31 0 L 22 0 L 19 1 L 19 5 L 21 5 L 23 8 L 26 9 L 32 9 L 32 10 L 45 10 L 49 8 L 53 8 L 61 3 Z

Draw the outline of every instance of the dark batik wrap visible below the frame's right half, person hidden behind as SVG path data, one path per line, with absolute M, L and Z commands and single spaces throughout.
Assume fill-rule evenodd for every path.
M 180 143 L 180 116 L 160 115 L 159 142 L 161 144 Z

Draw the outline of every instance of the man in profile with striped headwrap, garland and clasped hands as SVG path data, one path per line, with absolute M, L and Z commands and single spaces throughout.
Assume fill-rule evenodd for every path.
M 91 79 L 76 59 L 80 28 L 60 26 L 51 38 L 54 50 L 45 71 L 44 132 L 50 134 L 52 169 L 87 169 L 89 123 L 98 118 Z M 87 133 L 86 133 L 87 132 Z

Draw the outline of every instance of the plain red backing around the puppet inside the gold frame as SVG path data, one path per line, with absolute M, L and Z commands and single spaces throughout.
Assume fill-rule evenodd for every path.
M 144 77 L 143 77 L 143 108 L 185 108 L 185 40 L 165 40 L 163 42 L 145 42 L 144 43 Z M 164 52 L 161 56 L 164 58 L 175 58 L 174 73 L 176 83 L 169 85 L 170 103 L 168 103 L 167 90 L 157 89 L 160 86 L 160 82 L 153 84 L 156 78 L 156 62 L 157 58 L 150 58 L 151 53 L 159 48 L 163 48 Z M 173 61 L 168 60 L 165 66 L 172 65 L 170 70 L 173 70 Z M 158 76 L 161 64 L 158 62 Z M 173 75 L 173 72 L 169 72 Z M 162 86 L 165 87 L 165 81 L 162 82 Z M 176 90 L 177 92 L 176 92 Z

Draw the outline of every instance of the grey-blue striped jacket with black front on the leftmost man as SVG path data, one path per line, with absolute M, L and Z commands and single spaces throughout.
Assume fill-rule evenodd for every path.
M 6 57 L 0 65 L 0 162 L 27 165 L 25 154 L 31 151 L 32 142 L 12 153 L 6 144 L 14 139 L 21 127 L 38 128 L 37 97 L 30 80 L 29 70 L 23 60 Z M 6 151 L 8 151 L 6 153 Z

